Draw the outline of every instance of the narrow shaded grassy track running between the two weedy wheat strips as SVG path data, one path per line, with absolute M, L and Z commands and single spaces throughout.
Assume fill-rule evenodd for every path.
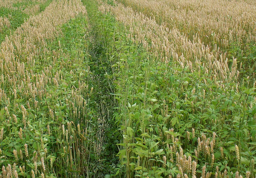
M 120 143 L 121 135 L 113 120 L 114 107 L 117 102 L 113 93 L 115 93 L 114 81 L 116 80 L 115 70 L 112 66 L 116 63 L 116 58 L 111 56 L 112 53 L 117 52 L 113 48 L 113 44 L 120 39 L 118 33 L 121 33 L 119 24 L 110 15 L 103 15 L 98 10 L 98 4 L 93 0 L 83 0 L 87 7 L 88 20 L 90 24 L 89 36 L 91 38 L 91 45 L 89 47 L 90 68 L 95 74 L 97 81 L 96 92 L 98 97 L 95 98 L 100 106 L 99 112 L 101 118 L 105 118 L 108 127 L 105 128 L 103 145 L 103 152 L 100 154 L 98 167 L 95 167 L 95 172 L 98 171 L 98 177 L 114 174 L 114 169 L 117 166 L 118 153 L 117 143 Z M 95 83 L 96 84 L 96 83 Z M 94 84 L 94 85 L 95 85 Z M 101 172 L 100 172 L 101 171 Z

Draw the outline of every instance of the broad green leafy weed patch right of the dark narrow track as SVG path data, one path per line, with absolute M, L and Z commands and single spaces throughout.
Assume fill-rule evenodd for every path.
M 107 177 L 176 177 L 181 171 L 192 177 L 181 167 L 183 155 L 196 161 L 196 177 L 255 174 L 256 93 L 249 81 L 220 86 L 203 66 L 191 73 L 163 64 L 119 29 L 104 35 L 108 58 L 116 62 L 114 119 L 123 137 L 120 165 Z

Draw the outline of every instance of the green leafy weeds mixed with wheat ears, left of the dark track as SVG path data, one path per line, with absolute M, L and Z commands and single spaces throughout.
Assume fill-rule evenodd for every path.
M 17 99 L 11 94 L 9 104 L 4 98 L 1 101 L 0 162 L 5 167 L 14 162 L 24 166 L 26 171 L 18 170 L 23 177 L 32 176 L 32 171 L 36 177 L 41 173 L 46 177 L 102 177 L 109 172 L 111 147 L 115 147 L 108 143 L 113 139 L 108 133 L 111 86 L 109 78 L 104 77 L 108 63 L 100 58 L 101 53 L 97 59 L 90 55 L 94 42 L 88 36 L 86 17 L 71 19 L 61 30 L 63 35 L 47 43 L 48 53 L 42 51 L 33 66 L 25 64 L 36 74 L 51 78 L 43 81 L 44 95 L 34 98 L 32 93 L 24 96 L 23 90 L 17 90 Z M 56 77 L 61 78 L 57 83 Z M 1 88 L 13 91 L 7 82 Z M 4 109 L 6 106 L 8 109 Z M 11 120 L 9 113 L 15 115 Z

